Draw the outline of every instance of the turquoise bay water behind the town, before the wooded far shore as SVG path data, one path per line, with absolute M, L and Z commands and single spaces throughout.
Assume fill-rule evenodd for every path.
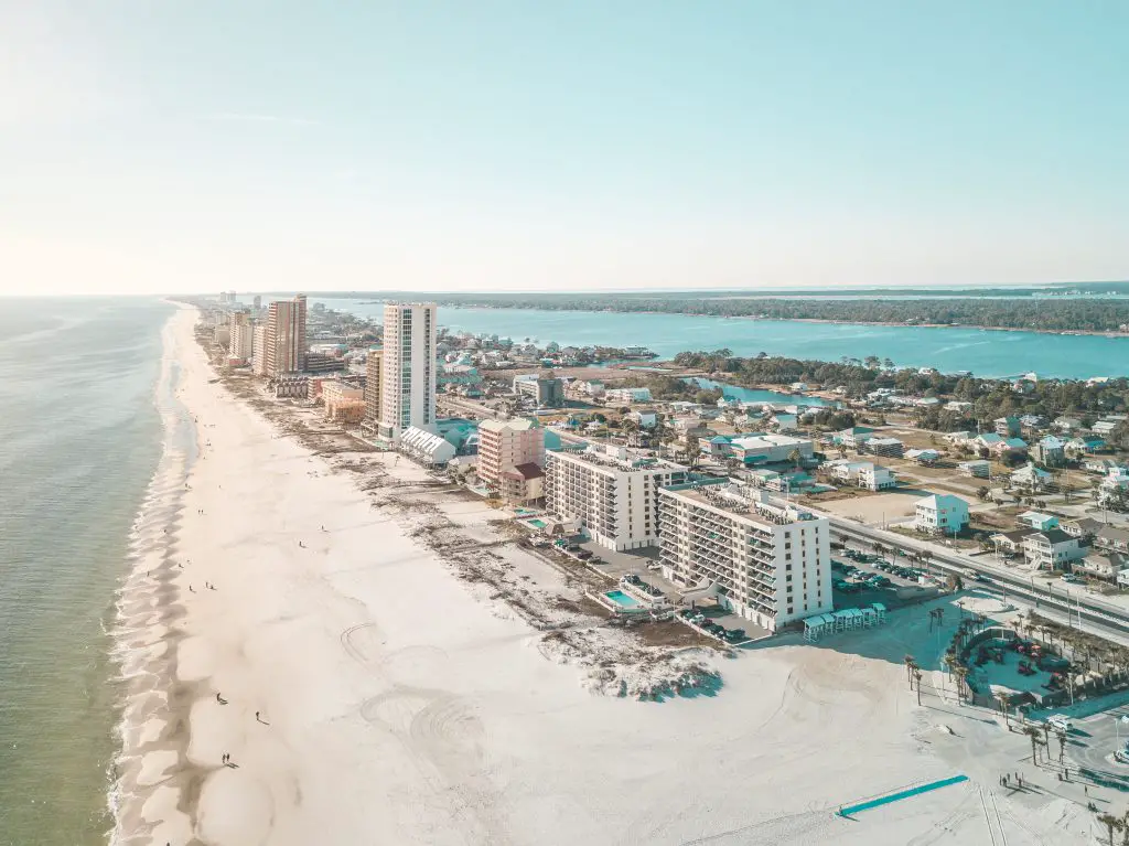
M 379 304 L 359 299 L 313 302 L 370 317 L 383 313 Z M 439 308 L 439 325 L 561 344 L 641 344 L 663 357 L 728 347 L 737 356 L 763 351 L 825 361 L 877 356 L 900 366 L 936 367 L 945 373 L 971 370 L 978 376 L 1015 376 L 1032 370 L 1062 378 L 1129 375 L 1129 338 L 1101 335 L 446 306 Z

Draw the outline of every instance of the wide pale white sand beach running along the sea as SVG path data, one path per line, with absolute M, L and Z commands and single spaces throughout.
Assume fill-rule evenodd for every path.
M 999 786 L 1030 761 L 1025 739 L 943 697 L 939 672 L 917 705 L 902 656 L 942 643 L 924 608 L 819 646 L 718 656 L 716 691 L 602 695 L 413 537 L 427 509 L 397 507 L 411 488 L 395 482 L 421 470 L 369 454 L 384 488 L 362 490 L 210 381 L 195 320 L 172 320 L 166 366 L 180 365 L 200 455 L 163 465 L 123 592 L 117 844 L 1091 841 L 1080 788 Z M 467 537 L 497 537 L 484 505 L 434 502 Z M 500 557 L 528 590 L 568 595 L 531 555 Z M 1014 755 L 979 753 L 1000 735 Z M 970 780 L 834 816 L 959 774 Z

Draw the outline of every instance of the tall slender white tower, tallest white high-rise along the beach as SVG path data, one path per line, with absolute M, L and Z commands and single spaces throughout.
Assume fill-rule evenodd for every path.
M 380 436 L 399 441 L 404 429 L 435 429 L 435 303 L 384 306 Z

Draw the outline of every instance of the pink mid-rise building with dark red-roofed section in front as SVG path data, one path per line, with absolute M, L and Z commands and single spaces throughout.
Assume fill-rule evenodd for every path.
M 479 478 L 507 503 L 543 496 L 545 431 L 535 420 L 483 420 L 479 425 Z

